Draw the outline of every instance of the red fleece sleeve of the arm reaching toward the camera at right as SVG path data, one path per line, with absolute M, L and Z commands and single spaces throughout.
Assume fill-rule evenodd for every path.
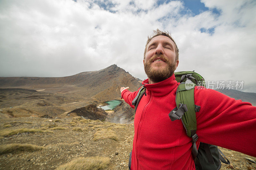
M 195 89 L 200 142 L 256 157 L 256 107 L 212 89 Z

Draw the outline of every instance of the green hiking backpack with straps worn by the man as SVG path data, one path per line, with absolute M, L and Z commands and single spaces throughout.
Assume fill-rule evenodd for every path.
M 205 87 L 204 78 L 194 71 L 180 71 L 175 72 L 174 75 L 175 80 L 180 82 L 180 85 L 176 92 L 177 107 L 170 112 L 169 117 L 171 121 L 181 119 L 188 137 L 192 138 L 192 155 L 196 170 L 218 170 L 221 167 L 221 162 L 229 165 L 230 162 L 228 159 L 215 145 L 200 142 L 198 150 L 196 149 L 196 141 L 198 139 L 196 134 L 196 112 L 199 112 L 200 106 L 195 105 L 194 89 L 196 85 Z M 132 105 L 135 106 L 135 113 L 140 99 L 144 94 L 145 87 L 143 86 L 132 101 Z M 227 161 L 221 155 L 223 155 Z

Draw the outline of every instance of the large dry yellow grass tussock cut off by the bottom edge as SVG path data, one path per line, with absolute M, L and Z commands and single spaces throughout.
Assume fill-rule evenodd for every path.
M 106 157 L 81 157 L 59 166 L 56 170 L 97 170 L 106 168 L 109 162 L 110 159 Z

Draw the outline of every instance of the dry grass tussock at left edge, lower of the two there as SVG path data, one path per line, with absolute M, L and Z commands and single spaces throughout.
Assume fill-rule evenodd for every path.
M 37 146 L 34 144 L 1 144 L 0 155 L 4 153 L 16 153 L 16 152 L 34 152 L 37 150 L 45 149 L 43 146 Z

